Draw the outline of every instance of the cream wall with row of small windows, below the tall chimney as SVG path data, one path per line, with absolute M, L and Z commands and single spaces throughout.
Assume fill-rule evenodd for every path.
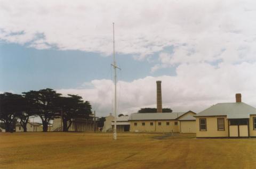
M 153 123 L 153 125 L 150 125 L 150 122 Z M 158 122 L 160 122 L 161 125 L 158 125 Z M 169 125 L 167 125 L 166 122 L 169 122 Z M 175 122 L 177 122 L 177 125 L 175 125 Z M 134 123 L 137 123 L 137 126 L 135 126 Z M 142 123 L 145 123 L 145 125 L 142 125 Z M 179 132 L 179 121 L 177 120 L 131 121 L 130 131 L 131 132 Z

